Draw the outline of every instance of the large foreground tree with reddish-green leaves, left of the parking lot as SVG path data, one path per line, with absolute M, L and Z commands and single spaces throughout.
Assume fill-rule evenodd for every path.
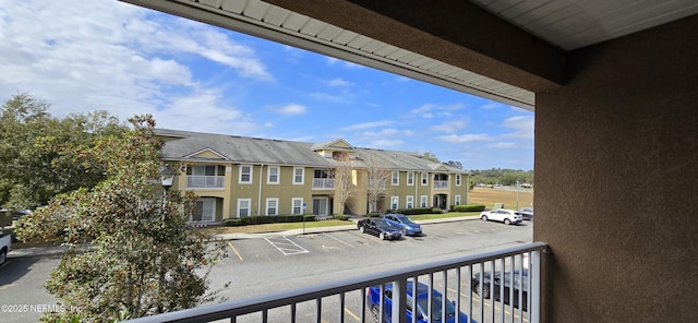
M 130 121 L 134 129 L 125 136 L 104 137 L 77 153 L 105 165 L 106 180 L 60 194 L 20 222 L 21 240 L 61 231 L 69 247 L 45 283 L 67 311 L 45 313 L 44 320 L 109 322 L 216 297 L 206 275 L 224 249 L 209 248 L 209 237 L 186 225 L 196 196 L 158 194 L 163 143 L 153 134 L 155 121 L 149 116 Z

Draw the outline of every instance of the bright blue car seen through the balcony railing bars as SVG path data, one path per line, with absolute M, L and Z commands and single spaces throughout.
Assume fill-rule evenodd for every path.
M 412 309 L 412 282 L 407 282 L 407 322 L 413 322 L 413 315 L 417 315 L 417 322 L 456 322 L 456 313 L 459 316 L 459 322 L 474 322 L 468 321 L 468 315 L 456 312 L 456 306 L 453 301 L 444 299 L 444 297 L 437 290 L 432 290 L 432 318 L 429 318 L 429 286 L 418 283 L 417 284 L 417 310 Z M 383 288 L 383 322 L 390 323 L 393 319 L 393 284 L 386 284 Z M 442 312 L 442 304 L 446 301 L 446 314 Z M 381 322 L 381 287 L 371 286 L 366 288 L 366 306 L 371 310 L 374 322 Z M 444 320 L 445 318 L 445 320 Z M 431 319 L 431 320 L 430 320 Z

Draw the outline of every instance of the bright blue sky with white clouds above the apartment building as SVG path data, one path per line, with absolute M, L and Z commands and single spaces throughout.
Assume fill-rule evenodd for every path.
M 113 0 L 0 0 L 0 99 L 533 169 L 533 112 Z

